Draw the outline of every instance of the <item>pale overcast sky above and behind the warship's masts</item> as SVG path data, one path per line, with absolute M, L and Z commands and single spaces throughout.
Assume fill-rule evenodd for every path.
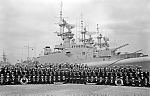
M 11 63 L 28 56 L 38 56 L 45 46 L 61 43 L 54 33 L 59 31 L 60 2 L 63 16 L 79 34 L 81 13 L 89 32 L 100 32 L 109 37 L 110 46 L 123 44 L 124 52 L 150 55 L 149 0 L 0 0 L 0 55 L 5 51 Z M 79 38 L 75 36 L 75 38 Z M 2 60 L 2 56 L 0 56 Z

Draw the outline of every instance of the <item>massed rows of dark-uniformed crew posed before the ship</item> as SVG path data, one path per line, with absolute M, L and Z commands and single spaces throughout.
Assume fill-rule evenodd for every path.
M 89 67 L 84 64 L 9 65 L 0 68 L 0 84 L 75 83 L 149 87 L 149 72 L 138 66 Z

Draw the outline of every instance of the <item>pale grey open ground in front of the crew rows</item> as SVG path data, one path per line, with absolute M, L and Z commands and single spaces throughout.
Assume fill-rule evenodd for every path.
M 150 88 L 108 85 L 5 85 L 0 96 L 150 96 Z

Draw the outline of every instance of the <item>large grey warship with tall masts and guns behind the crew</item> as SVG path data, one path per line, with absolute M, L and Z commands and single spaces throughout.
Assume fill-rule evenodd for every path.
M 39 56 L 37 60 L 44 63 L 84 63 L 89 66 L 100 65 L 109 66 L 117 63 L 139 63 L 150 61 L 148 55 L 140 52 L 118 52 L 120 48 L 128 46 L 129 44 L 123 44 L 116 48 L 110 48 L 109 38 L 99 32 L 97 24 L 96 39 L 92 37 L 92 34 L 88 32 L 87 28 L 83 26 L 83 20 L 81 19 L 81 38 L 77 40 L 74 38 L 72 29 L 75 28 L 73 24 L 68 23 L 62 16 L 62 7 L 60 11 L 60 21 L 58 23 L 60 31 L 55 32 L 58 37 L 61 37 L 62 43 L 55 45 L 54 51 L 50 46 L 44 48 L 44 55 Z M 130 61 L 130 62 L 129 62 Z

